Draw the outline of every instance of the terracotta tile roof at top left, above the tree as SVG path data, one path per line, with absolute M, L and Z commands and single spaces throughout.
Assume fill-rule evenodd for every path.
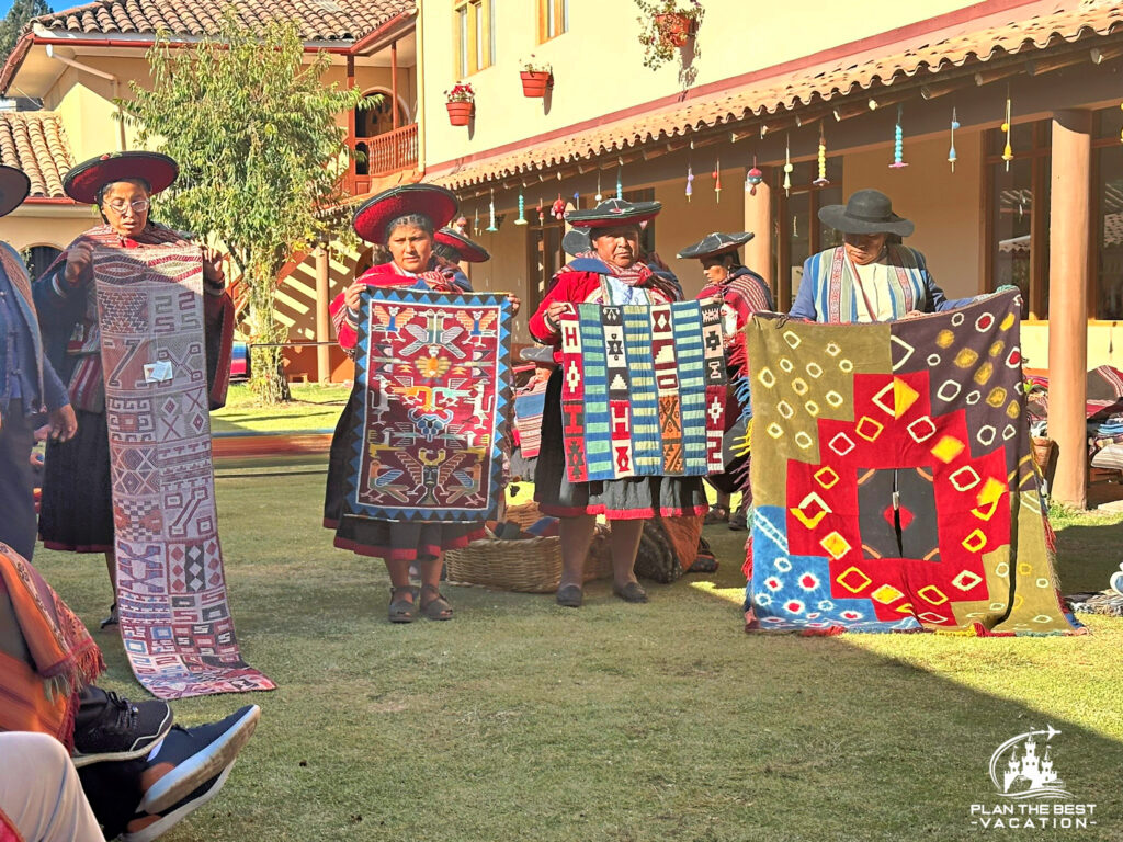
M 98 0 L 34 22 L 97 35 L 161 29 L 172 35 L 216 35 L 225 6 L 225 0 Z M 417 11 L 417 0 L 235 0 L 234 6 L 246 27 L 294 20 L 304 40 L 358 40 L 402 12 Z

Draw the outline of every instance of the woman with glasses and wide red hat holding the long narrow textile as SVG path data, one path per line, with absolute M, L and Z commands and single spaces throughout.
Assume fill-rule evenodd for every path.
M 113 501 L 109 432 L 101 368 L 101 332 L 92 258 L 95 248 L 182 246 L 184 235 L 149 217 L 152 198 L 175 181 L 179 166 L 166 155 L 124 152 L 79 164 L 63 181 L 66 194 L 98 208 L 102 223 L 77 237 L 35 284 L 47 354 L 69 378 L 77 434 L 48 442 L 39 513 L 47 549 L 104 552 L 115 587 Z M 234 304 L 225 290 L 220 255 L 203 248 L 203 315 L 211 409 L 226 402 Z M 117 622 L 116 602 L 102 625 Z

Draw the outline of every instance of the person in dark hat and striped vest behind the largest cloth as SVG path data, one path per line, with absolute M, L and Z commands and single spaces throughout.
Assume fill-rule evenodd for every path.
M 832 324 L 894 321 L 969 303 L 949 301 L 928 271 L 924 255 L 891 242 L 913 223 L 893 212 L 889 198 L 859 190 L 842 204 L 821 208 L 819 219 L 842 231 L 843 245 L 812 255 L 791 315 Z

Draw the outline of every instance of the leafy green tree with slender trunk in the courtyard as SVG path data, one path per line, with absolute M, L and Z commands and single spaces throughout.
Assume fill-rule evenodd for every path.
M 358 89 L 326 85 L 328 54 L 305 64 L 303 47 L 292 22 L 250 31 L 228 11 L 218 36 L 194 48 L 173 48 L 161 37 L 148 52 L 152 90 L 133 82 L 135 99 L 122 103 L 140 144 L 156 144 L 180 164 L 159 216 L 221 244 L 241 272 L 254 344 L 250 386 L 263 403 L 289 397 L 277 274 L 328 239 L 323 211 L 343 198 L 348 162 L 336 119 L 372 104 Z

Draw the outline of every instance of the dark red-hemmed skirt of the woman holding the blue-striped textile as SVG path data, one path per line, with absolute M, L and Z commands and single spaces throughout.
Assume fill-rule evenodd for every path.
M 535 500 L 546 514 L 574 518 L 603 514 L 609 520 L 675 518 L 710 511 L 702 477 L 645 476 L 570 483 L 565 470 L 562 430 L 562 369 L 550 375 L 542 411 L 542 449 L 535 469 Z

